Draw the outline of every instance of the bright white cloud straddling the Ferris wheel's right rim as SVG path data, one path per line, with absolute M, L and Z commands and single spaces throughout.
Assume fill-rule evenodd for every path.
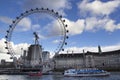
M 71 21 L 67 18 L 65 19 L 65 24 L 68 25 L 66 30 L 69 30 L 69 35 L 77 35 L 81 34 L 85 27 L 85 21 L 84 19 L 78 19 L 77 21 Z M 48 33 L 47 36 L 60 36 L 63 35 L 63 26 L 58 23 L 57 20 L 54 20 L 53 22 L 47 24 L 45 26 L 46 33 Z

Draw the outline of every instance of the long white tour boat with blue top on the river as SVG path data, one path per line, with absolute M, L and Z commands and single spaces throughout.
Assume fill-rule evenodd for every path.
M 99 70 L 97 68 L 84 68 L 84 69 L 68 69 L 65 70 L 64 76 L 108 76 L 109 72 Z

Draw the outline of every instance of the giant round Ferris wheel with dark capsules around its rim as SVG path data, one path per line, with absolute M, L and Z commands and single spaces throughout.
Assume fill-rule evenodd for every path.
M 39 36 L 38 42 L 44 50 L 58 54 L 67 45 L 69 31 L 58 12 L 48 8 L 35 8 L 16 17 L 6 32 L 5 48 L 13 59 L 21 49 L 27 50 L 28 45 L 34 43 L 33 33 Z

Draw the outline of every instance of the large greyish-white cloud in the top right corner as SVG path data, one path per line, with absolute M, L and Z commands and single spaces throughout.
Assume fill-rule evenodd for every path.
M 102 2 L 100 0 L 89 2 L 88 0 L 83 0 L 78 4 L 78 8 L 81 12 L 89 12 L 96 15 L 109 15 L 119 6 L 119 0 L 111 0 L 107 2 Z

